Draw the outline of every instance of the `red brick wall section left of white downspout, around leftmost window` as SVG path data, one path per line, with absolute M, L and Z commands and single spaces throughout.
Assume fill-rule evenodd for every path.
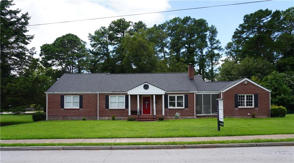
M 83 95 L 83 109 L 61 109 L 61 95 Z M 97 94 L 48 94 L 48 120 L 97 119 Z

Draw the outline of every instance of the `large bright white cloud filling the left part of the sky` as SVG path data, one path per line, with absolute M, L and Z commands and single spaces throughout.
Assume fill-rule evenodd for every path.
M 13 9 L 19 8 L 23 13 L 29 13 L 30 24 L 166 11 L 171 8 L 168 1 L 19 1 L 15 4 Z M 108 26 L 111 21 L 119 18 L 28 26 L 28 34 L 35 35 L 29 48 L 36 47 L 37 54 L 34 57 L 39 57 L 41 45 L 52 43 L 57 37 L 68 33 L 76 34 L 86 41 L 89 47 L 89 33 L 101 26 Z M 143 21 L 147 26 L 153 26 L 163 23 L 165 17 L 157 13 L 126 16 L 125 19 L 133 22 Z

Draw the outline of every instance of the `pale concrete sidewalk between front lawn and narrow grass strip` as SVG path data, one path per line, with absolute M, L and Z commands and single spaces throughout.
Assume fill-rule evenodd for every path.
M 0 140 L 0 143 L 129 143 L 129 142 L 199 142 L 213 140 L 286 139 L 294 134 L 247 135 L 228 137 L 174 137 L 174 138 L 113 138 L 113 139 L 20 139 Z

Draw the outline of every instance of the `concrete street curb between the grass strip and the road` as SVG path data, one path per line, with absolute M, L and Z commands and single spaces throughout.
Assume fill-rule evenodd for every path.
M 219 148 L 219 147 L 261 147 L 294 145 L 294 142 L 276 143 L 239 143 L 239 144 L 191 144 L 191 145 L 117 145 L 117 146 L 37 146 L 37 147 L 0 147 L 8 150 L 97 150 L 97 149 L 177 149 L 177 148 Z

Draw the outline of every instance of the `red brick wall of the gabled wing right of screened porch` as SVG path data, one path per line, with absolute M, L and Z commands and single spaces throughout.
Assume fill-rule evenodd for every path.
M 258 108 L 235 108 L 235 94 L 258 94 Z M 224 116 L 245 117 L 251 116 L 253 112 L 258 117 L 270 116 L 270 92 L 244 81 L 235 87 L 223 92 Z M 248 113 L 250 115 L 248 115 Z

